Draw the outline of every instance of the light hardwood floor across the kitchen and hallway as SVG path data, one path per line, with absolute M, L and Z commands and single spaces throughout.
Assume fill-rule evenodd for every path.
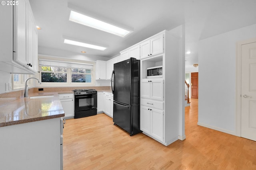
M 64 170 L 256 170 L 256 142 L 197 125 L 198 100 L 185 109 L 184 141 L 168 147 L 113 125 L 105 114 L 68 119 Z M 170 129 L 171 130 L 171 129 Z

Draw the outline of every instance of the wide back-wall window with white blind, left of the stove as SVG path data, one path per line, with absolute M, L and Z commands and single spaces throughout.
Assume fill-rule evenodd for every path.
M 39 59 L 39 66 L 42 82 L 46 82 L 49 85 L 54 83 L 66 85 L 93 84 L 93 64 Z

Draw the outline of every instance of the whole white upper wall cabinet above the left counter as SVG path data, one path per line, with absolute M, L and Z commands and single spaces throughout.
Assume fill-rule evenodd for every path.
M 0 11 L 1 27 L 0 70 L 36 74 L 38 71 L 38 34 L 28 0 L 5 6 Z

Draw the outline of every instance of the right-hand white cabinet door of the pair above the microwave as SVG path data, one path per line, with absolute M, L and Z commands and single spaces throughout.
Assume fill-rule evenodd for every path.
M 150 55 L 164 53 L 164 35 L 158 35 L 150 39 Z

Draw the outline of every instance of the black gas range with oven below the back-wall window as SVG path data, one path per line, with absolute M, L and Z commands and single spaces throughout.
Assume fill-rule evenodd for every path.
M 97 90 L 77 89 L 74 91 L 74 118 L 88 117 L 97 114 Z

